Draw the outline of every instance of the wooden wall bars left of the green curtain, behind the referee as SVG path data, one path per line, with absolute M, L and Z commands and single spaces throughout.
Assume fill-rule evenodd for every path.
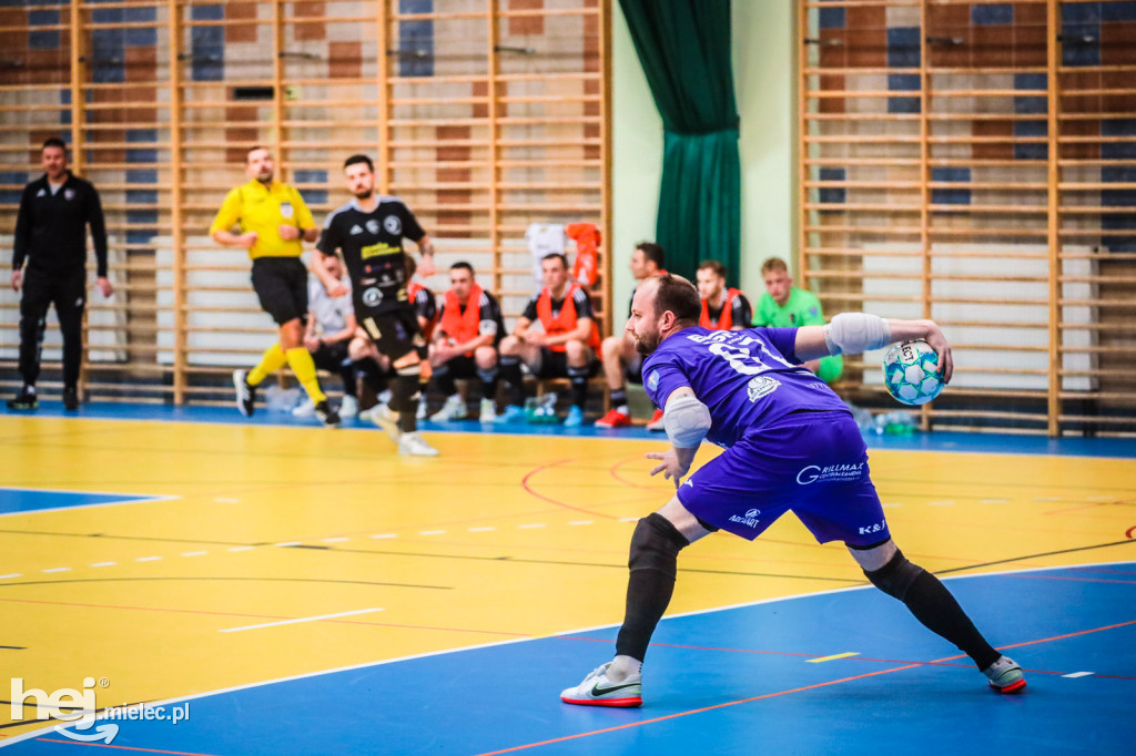
M 531 224 L 592 222 L 611 238 L 609 25 L 610 0 L 6 3 L 0 244 L 41 173 L 39 145 L 62 135 L 102 195 L 116 287 L 87 310 L 89 397 L 225 402 L 227 373 L 274 333 L 245 253 L 208 235 L 247 180 L 245 150 L 272 148 L 319 222 L 350 199 L 341 167 L 364 152 L 436 240 L 443 272 L 427 285 L 440 294 L 467 260 L 511 325 L 535 287 Z M 594 296 L 609 312 L 600 252 Z M 17 324 L 17 295 L 0 293 L 5 392 L 18 384 Z

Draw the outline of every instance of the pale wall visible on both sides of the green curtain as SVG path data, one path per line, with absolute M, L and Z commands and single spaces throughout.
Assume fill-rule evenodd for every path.
M 619 3 L 612 2 L 612 140 L 615 308 L 632 292 L 627 260 L 654 238 L 662 175 L 662 120 L 635 54 Z M 795 3 L 734 0 L 734 89 L 742 118 L 742 288 L 765 291 L 761 261 L 779 255 L 793 268 L 796 250 Z

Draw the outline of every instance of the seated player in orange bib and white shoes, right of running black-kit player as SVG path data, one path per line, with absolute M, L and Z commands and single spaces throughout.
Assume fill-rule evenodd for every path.
M 463 420 L 466 400 L 458 393 L 454 379 L 477 376 L 482 384 L 479 420 L 496 421 L 498 345 L 502 336 L 504 320 L 496 297 L 477 285 L 473 266 L 454 262 L 429 346 L 434 385 L 445 396 L 445 404 L 431 420 Z

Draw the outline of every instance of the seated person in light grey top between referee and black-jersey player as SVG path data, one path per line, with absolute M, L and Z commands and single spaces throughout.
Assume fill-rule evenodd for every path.
M 327 275 L 343 282 L 343 263 L 335 255 L 318 255 L 312 261 L 321 264 Z M 353 418 L 359 411 L 356 395 L 356 368 L 349 354 L 349 345 L 354 338 L 354 309 L 346 296 L 332 297 L 315 276 L 308 280 L 308 326 L 303 334 L 303 345 L 311 354 L 311 361 L 319 370 L 339 373 L 343 379 L 343 403 L 341 418 Z M 309 398 L 292 410 L 298 418 L 306 418 L 316 411 Z

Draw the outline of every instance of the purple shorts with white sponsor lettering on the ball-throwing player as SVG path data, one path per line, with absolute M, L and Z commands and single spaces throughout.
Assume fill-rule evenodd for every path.
M 847 412 L 797 412 L 754 430 L 687 478 L 678 501 L 750 540 L 790 510 L 821 544 L 891 538 L 868 450 Z

